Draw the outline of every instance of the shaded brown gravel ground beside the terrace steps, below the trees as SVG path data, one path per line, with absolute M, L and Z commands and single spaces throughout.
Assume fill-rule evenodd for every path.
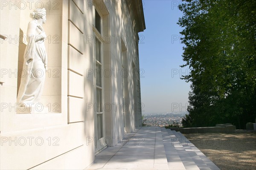
M 221 170 L 256 170 L 256 132 L 183 134 Z

